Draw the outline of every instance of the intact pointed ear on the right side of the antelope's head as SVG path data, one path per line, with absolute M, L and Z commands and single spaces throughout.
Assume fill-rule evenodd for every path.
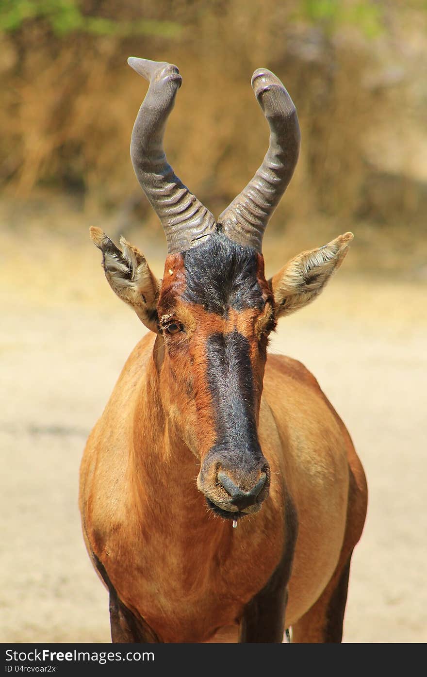
M 351 240 L 353 233 L 346 233 L 323 247 L 302 252 L 271 278 L 276 318 L 293 313 L 319 296 L 340 267 Z

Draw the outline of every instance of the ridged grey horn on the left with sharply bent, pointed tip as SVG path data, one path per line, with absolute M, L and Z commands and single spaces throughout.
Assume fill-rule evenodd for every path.
M 166 121 L 181 87 L 177 66 L 130 57 L 129 66 L 150 82 L 133 125 L 131 159 L 141 188 L 156 211 L 170 254 L 195 246 L 216 230 L 212 214 L 168 165 L 163 150 Z

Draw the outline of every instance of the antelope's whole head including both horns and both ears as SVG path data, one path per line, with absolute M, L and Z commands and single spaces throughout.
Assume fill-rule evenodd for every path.
M 137 58 L 129 65 L 150 82 L 133 127 L 131 158 L 166 234 L 163 279 L 156 280 L 124 238 L 120 250 L 97 228 L 91 236 L 114 292 L 157 334 L 154 358 L 170 434 L 200 462 L 197 486 L 209 508 L 235 521 L 258 512 L 269 495 L 270 469 L 257 434 L 269 334 L 282 315 L 317 297 L 353 236 L 294 257 L 266 280 L 263 234 L 300 146 L 296 109 L 284 85 L 266 68 L 254 72 L 269 148 L 252 180 L 215 220 L 175 176 L 163 150 L 179 70 Z

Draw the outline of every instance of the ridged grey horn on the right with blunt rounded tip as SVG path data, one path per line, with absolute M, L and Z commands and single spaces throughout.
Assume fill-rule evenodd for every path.
M 269 123 L 269 150 L 252 181 L 223 211 L 218 223 L 231 240 L 261 253 L 267 222 L 294 173 L 300 128 L 292 99 L 274 73 L 258 68 L 251 85 Z

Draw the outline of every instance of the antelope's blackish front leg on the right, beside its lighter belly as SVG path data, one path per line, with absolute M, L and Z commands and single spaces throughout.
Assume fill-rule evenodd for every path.
M 239 642 L 283 642 L 288 581 L 297 533 L 298 518 L 294 504 L 288 497 L 282 559 L 264 588 L 246 605 L 240 621 Z

